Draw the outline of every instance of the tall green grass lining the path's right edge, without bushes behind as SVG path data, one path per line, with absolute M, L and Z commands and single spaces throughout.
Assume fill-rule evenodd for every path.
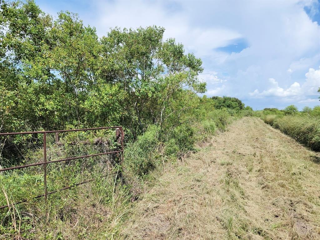
M 320 150 L 320 117 L 303 115 L 263 115 L 265 123 L 288 134 L 313 150 Z

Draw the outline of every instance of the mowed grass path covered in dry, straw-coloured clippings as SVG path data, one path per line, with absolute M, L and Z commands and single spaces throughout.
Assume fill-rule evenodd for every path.
M 320 239 L 320 155 L 245 117 L 135 202 L 124 239 Z

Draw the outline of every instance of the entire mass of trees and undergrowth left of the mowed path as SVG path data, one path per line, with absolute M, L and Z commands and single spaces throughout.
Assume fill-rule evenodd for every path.
M 1 174 L 0 205 L 10 208 L 0 210 L 0 239 L 114 238 L 150 170 L 253 112 L 235 98 L 198 97 L 206 90 L 197 77 L 202 61 L 163 40 L 164 28 L 114 28 L 99 38 L 76 14 L 52 19 L 33 1 L 1 1 L 0 9 L 1 132 L 113 125 L 125 132 L 123 163 L 111 155 L 49 164 L 49 191 L 94 181 L 50 195 L 47 207 L 33 199 L 44 189 L 41 166 Z M 0 140 L 1 167 L 43 159 L 41 134 Z M 110 130 L 64 133 L 59 144 L 49 134 L 47 156 L 111 151 L 114 140 Z

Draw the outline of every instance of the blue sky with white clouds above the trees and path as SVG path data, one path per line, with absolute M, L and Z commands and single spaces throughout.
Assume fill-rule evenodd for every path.
M 320 1 L 48 1 L 53 17 L 79 14 L 98 36 L 110 28 L 161 26 L 203 60 L 205 95 L 254 110 L 320 105 Z

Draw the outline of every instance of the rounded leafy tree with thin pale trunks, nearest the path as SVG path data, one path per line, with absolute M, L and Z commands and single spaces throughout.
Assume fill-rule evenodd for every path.
M 169 117 L 182 121 L 194 107 L 186 100 L 205 91 L 197 78 L 203 71 L 202 61 L 184 54 L 183 45 L 174 39 L 163 41 L 163 33 L 164 28 L 156 26 L 115 28 L 101 39 L 103 61 L 110 66 L 103 75 L 113 72 L 113 81 L 126 92 L 125 109 L 133 135 L 144 132 L 148 124 L 163 126 Z

